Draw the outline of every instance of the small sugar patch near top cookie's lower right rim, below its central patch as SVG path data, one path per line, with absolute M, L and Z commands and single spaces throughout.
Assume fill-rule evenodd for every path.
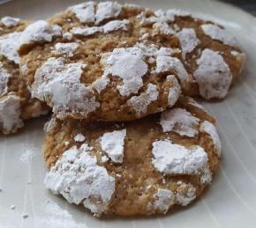
M 136 114 L 145 114 L 151 102 L 158 98 L 158 94 L 156 85 L 149 84 L 146 92 L 142 92 L 139 96 L 133 96 L 127 103 L 135 110 Z

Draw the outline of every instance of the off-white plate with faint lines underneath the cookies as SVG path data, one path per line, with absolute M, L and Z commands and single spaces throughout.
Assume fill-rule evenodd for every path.
M 22 0 L 0 5 L 0 15 L 46 18 L 72 0 Z M 132 2 L 132 1 L 131 1 Z M 135 1 L 133 1 L 135 3 Z M 171 7 L 205 14 L 230 29 L 247 54 L 243 77 L 227 99 L 207 104 L 218 119 L 223 155 L 220 172 L 198 201 L 165 217 L 96 219 L 52 195 L 42 184 L 42 126 L 30 121 L 18 135 L 0 137 L 0 227 L 225 227 L 256 226 L 256 19 L 230 5 L 214 1 L 136 1 L 154 9 Z M 11 210 L 11 205 L 15 206 Z M 28 217 L 23 218 L 22 214 Z

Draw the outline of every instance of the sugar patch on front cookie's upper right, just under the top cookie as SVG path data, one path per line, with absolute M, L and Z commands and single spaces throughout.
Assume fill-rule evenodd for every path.
M 194 137 L 199 134 L 200 120 L 185 109 L 176 107 L 162 112 L 160 124 L 163 132 L 174 131 L 180 136 Z

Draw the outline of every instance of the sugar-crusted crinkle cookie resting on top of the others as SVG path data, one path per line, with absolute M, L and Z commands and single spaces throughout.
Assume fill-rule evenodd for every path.
M 79 4 L 21 35 L 21 66 L 35 98 L 57 118 L 132 121 L 172 107 L 192 76 L 177 37 L 147 38 L 140 9 Z

